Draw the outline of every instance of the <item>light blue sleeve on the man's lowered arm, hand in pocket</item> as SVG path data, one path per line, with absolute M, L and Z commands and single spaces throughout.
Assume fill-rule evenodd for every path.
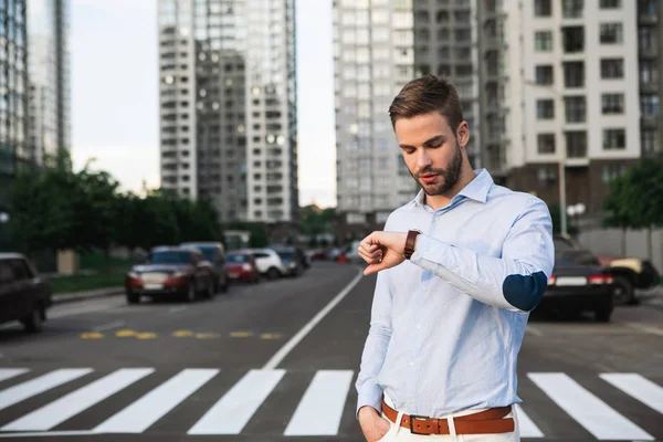
M 370 406 L 378 412 L 381 410 L 382 388 L 378 383 L 378 376 L 382 369 L 389 340 L 391 339 L 392 291 L 388 280 L 388 272 L 378 273 L 370 315 L 370 328 L 364 346 L 361 367 L 356 382 L 357 413 L 365 406 Z

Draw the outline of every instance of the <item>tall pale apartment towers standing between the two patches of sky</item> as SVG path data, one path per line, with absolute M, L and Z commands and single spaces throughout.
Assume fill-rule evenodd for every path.
M 298 218 L 294 0 L 159 0 L 161 183 L 221 221 Z

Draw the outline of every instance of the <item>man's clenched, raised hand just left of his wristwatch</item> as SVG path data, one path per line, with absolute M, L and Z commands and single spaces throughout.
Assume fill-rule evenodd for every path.
M 365 275 L 391 269 L 406 261 L 406 232 L 372 232 L 359 244 L 359 256 L 366 261 L 368 267 Z

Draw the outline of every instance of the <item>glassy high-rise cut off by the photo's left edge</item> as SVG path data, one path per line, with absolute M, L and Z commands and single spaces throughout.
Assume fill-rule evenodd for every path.
M 29 167 L 25 0 L 0 1 L 0 207 L 17 170 Z M 1 211 L 1 210 L 0 210 Z

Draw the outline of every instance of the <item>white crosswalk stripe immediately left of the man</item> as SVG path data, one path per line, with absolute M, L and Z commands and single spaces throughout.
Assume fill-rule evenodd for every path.
M 352 370 L 319 370 L 306 389 L 284 435 L 336 435 Z

